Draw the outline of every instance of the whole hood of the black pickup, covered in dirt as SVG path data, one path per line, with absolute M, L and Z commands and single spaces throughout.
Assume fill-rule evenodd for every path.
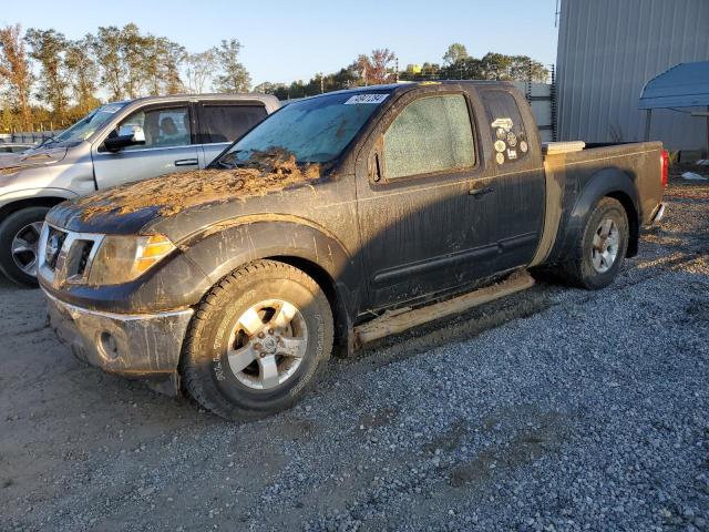
M 154 227 L 165 218 L 177 216 L 189 225 L 191 213 L 215 204 L 234 203 L 243 209 L 250 198 L 282 193 L 319 178 L 319 165 L 298 165 L 295 160 L 249 167 L 181 172 L 65 202 L 54 207 L 47 219 L 70 231 L 136 234 L 147 225 Z

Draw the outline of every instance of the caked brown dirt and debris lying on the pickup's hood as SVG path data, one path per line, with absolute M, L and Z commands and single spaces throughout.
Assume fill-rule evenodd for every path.
M 269 150 L 254 153 L 245 166 L 161 175 L 86 196 L 76 204 L 84 207 L 83 219 L 150 207 L 158 207 L 161 216 L 172 216 L 185 208 L 264 196 L 319 178 L 319 164 L 299 165 L 292 153 Z

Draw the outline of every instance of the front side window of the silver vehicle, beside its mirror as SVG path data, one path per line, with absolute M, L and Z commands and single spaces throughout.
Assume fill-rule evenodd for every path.
M 145 144 L 126 146 L 125 150 L 186 146 L 192 143 L 189 112 L 184 108 L 152 109 L 133 113 L 119 126 L 140 126 L 145 133 Z

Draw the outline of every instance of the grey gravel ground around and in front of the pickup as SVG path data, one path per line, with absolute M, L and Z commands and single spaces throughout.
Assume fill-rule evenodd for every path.
M 0 285 L 0 530 L 709 530 L 709 186 L 617 283 L 335 360 L 227 423 L 88 368 Z

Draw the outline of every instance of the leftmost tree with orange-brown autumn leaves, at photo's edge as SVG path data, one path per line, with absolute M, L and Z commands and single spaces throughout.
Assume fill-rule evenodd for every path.
M 8 86 L 10 105 L 20 114 L 20 126 L 30 127 L 32 73 L 20 24 L 0 28 L 0 81 Z

